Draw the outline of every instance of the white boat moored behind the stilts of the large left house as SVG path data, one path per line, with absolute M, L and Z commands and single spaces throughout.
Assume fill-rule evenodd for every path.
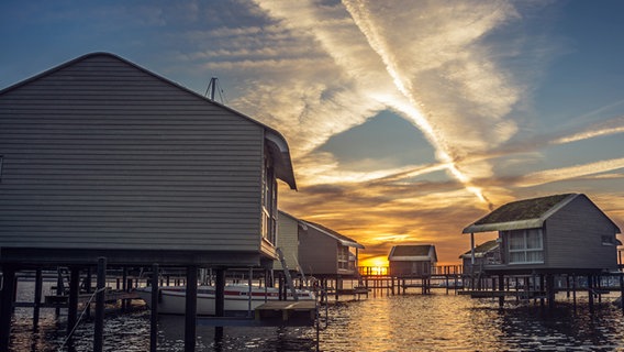
M 152 307 L 152 287 L 136 288 L 135 293 Z M 199 316 L 214 316 L 214 286 L 198 286 L 197 289 L 197 314 Z M 248 285 L 225 285 L 224 310 L 226 315 L 236 312 L 247 312 L 265 304 L 267 300 L 278 300 L 279 290 L 275 287 L 252 286 L 249 299 Z M 314 293 L 305 289 L 297 289 L 299 300 L 315 299 Z M 287 300 L 293 300 L 292 294 L 288 290 Z M 158 293 L 158 314 L 183 315 L 186 310 L 186 287 L 166 286 L 159 287 Z

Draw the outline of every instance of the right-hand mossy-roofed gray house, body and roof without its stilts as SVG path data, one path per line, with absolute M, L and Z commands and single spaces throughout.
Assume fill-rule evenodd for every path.
M 582 273 L 617 268 L 620 228 L 586 195 L 562 194 L 513 201 L 464 229 L 499 232 L 500 273 Z

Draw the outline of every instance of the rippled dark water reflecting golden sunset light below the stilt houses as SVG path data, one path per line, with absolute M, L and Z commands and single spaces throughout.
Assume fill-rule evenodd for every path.
M 22 285 L 22 283 L 20 283 Z M 579 295 L 580 296 L 580 295 Z M 27 294 L 21 294 L 27 300 Z M 327 309 L 327 327 L 319 332 L 321 351 L 624 351 L 624 314 L 605 297 L 589 312 L 587 298 L 575 307 L 558 296 L 557 308 L 471 299 L 444 290 L 432 295 L 369 296 Z M 90 351 L 93 323 L 83 319 L 73 346 L 62 346 L 65 311 L 43 309 L 33 332 L 32 310 L 15 310 L 12 351 Z M 323 310 L 323 315 L 325 311 Z M 183 351 L 183 317 L 159 318 L 158 350 Z M 213 327 L 198 326 L 197 351 L 315 351 L 313 328 L 225 327 L 215 342 Z M 104 351 L 148 351 L 149 311 L 107 310 Z

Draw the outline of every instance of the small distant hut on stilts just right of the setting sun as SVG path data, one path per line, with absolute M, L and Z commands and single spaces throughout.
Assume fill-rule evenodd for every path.
M 426 277 L 437 264 L 433 244 L 394 245 L 388 255 L 390 275 L 395 277 Z

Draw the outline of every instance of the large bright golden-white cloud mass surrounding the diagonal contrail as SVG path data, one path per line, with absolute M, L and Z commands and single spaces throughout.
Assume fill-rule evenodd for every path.
M 330 58 L 305 67 L 316 77 L 331 79 L 321 82 L 308 76 L 309 88 L 303 94 L 297 85 L 302 75 L 296 74 L 300 77 L 293 79 L 290 75 L 286 91 L 270 85 L 270 95 L 264 90 L 246 95 L 247 106 L 256 107 L 255 116 L 263 116 L 293 141 L 297 156 L 364 122 L 376 111 L 391 108 L 423 131 L 448 175 L 487 201 L 472 179 L 491 176 L 492 166 L 488 160 L 470 164 L 461 161 L 500 145 L 517 130 L 505 116 L 524 98 L 525 87 L 500 68 L 495 62 L 499 53 L 482 43 L 491 31 L 519 19 L 510 2 L 386 6 L 345 0 L 342 4 L 257 4 L 280 28 L 301 35 L 304 43 L 316 45 Z M 326 70 L 319 74 L 319 67 Z M 341 90 L 343 87 L 347 90 Z M 341 94 L 325 99 L 326 90 Z M 260 96 L 270 98 L 258 105 Z M 301 103 L 288 112 L 270 111 L 269 107 L 279 101 Z M 491 132 L 492 125 L 495 133 Z M 304 133 L 311 130 L 313 135 Z M 308 166 L 313 168 L 304 163 L 302 173 L 314 174 Z M 326 179 L 327 168 L 323 170 Z M 332 177 L 356 179 L 345 173 Z

